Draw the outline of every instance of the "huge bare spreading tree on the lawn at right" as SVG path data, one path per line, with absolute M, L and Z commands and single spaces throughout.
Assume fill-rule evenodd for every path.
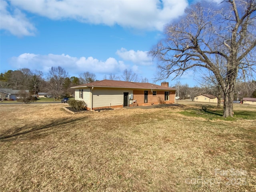
M 255 0 L 225 0 L 214 9 L 196 4 L 166 28 L 166 39 L 150 53 L 158 58 L 159 79 L 198 67 L 210 70 L 224 93 L 223 116 L 233 116 L 238 78 L 255 73 Z M 215 62 L 216 56 L 223 63 Z M 222 71 L 224 70 L 224 73 Z

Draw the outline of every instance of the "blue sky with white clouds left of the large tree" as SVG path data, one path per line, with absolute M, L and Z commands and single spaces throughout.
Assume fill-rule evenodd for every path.
M 148 51 L 193 2 L 0 0 L 0 72 L 29 68 L 46 75 L 62 66 L 70 77 L 88 71 L 102 80 L 128 69 L 152 82 L 157 64 Z M 166 81 L 194 86 L 193 79 L 188 72 Z

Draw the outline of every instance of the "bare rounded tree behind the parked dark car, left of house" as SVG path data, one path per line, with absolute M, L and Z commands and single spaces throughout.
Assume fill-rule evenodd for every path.
M 47 76 L 50 85 L 49 91 L 55 99 L 58 99 L 62 93 L 63 84 L 66 77 L 68 77 L 68 73 L 64 70 L 64 68 L 60 66 L 50 68 Z

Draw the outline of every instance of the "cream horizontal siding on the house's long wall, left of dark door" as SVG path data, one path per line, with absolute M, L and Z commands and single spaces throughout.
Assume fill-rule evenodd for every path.
M 109 89 L 94 89 L 93 108 L 118 106 L 124 103 L 124 92 L 133 93 L 132 90 L 109 90 Z

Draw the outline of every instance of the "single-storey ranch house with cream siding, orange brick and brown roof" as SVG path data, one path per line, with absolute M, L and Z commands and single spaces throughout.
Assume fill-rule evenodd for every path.
M 175 88 L 169 83 L 160 85 L 127 81 L 102 80 L 71 87 L 75 89 L 75 100 L 83 100 L 88 110 L 142 106 L 175 102 Z

